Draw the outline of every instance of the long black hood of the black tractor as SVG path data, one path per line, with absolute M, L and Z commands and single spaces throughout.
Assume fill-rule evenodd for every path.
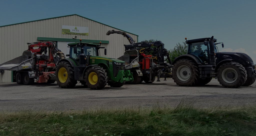
M 216 53 L 216 57 L 218 58 L 225 58 L 225 59 L 234 59 L 238 61 L 238 63 L 246 63 L 245 65 L 253 65 L 252 58 L 245 53 L 239 52 L 218 52 Z

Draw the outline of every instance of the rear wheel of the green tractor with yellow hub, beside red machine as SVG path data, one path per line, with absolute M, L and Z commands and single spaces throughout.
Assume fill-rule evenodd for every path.
M 74 88 L 77 81 L 74 79 L 74 69 L 67 62 L 62 61 L 56 67 L 56 81 L 61 88 Z

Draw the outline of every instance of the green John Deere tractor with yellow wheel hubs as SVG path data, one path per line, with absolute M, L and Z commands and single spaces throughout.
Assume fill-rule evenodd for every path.
M 56 81 L 61 88 L 73 88 L 80 81 L 86 88 L 100 90 L 108 83 L 111 87 L 121 87 L 133 81 L 130 70 L 125 70 L 125 62 L 119 59 L 100 57 L 100 44 L 69 43 L 68 56 L 56 67 Z M 106 55 L 106 49 L 104 50 Z

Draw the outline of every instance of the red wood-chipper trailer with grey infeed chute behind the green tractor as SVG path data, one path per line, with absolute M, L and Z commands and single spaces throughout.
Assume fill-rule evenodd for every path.
M 18 84 L 54 83 L 56 65 L 64 54 L 53 42 L 27 44 L 28 50 L 22 56 L 0 64 L 0 69 L 15 71 L 14 79 Z

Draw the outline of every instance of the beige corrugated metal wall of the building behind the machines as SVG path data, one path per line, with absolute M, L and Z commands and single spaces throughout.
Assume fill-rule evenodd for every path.
M 89 36 L 61 34 L 62 25 L 89 27 Z M 106 35 L 108 30 L 120 31 L 77 15 L 0 27 L 0 64 L 22 55 L 27 50 L 26 43 L 36 42 L 37 37 L 72 39 L 72 36 L 77 36 L 77 39 L 107 40 L 109 44 L 102 44 L 107 48 L 107 56 L 118 58 L 124 53 L 123 45 L 129 42 L 120 34 Z M 136 35 L 128 34 L 137 41 Z M 103 50 L 101 56 L 104 56 Z M 11 82 L 11 71 L 5 71 L 0 77 L 0 82 Z

